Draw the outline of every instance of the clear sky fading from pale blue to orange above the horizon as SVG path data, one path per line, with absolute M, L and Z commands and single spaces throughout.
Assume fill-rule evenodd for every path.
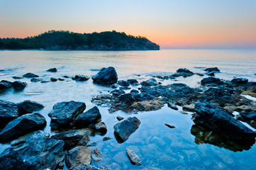
M 0 38 L 108 30 L 162 48 L 256 47 L 256 0 L 0 0 Z

